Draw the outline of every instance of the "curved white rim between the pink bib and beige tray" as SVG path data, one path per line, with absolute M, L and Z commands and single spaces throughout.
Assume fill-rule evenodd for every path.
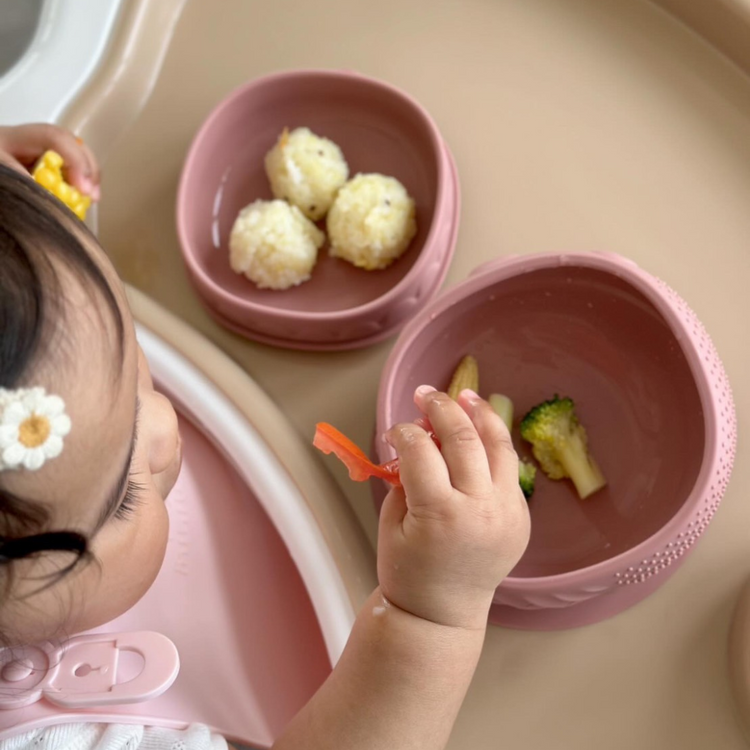
M 143 326 L 138 342 L 151 374 L 176 405 L 221 446 L 276 527 L 310 596 L 331 665 L 341 656 L 355 612 L 320 528 L 297 485 L 260 432 L 181 354 Z

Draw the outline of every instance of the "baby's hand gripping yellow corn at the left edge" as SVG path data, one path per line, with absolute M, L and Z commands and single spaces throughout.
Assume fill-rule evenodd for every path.
M 91 149 L 69 130 L 45 123 L 0 127 L 0 162 L 30 171 L 48 150 L 63 158 L 66 181 L 99 200 L 99 165 Z

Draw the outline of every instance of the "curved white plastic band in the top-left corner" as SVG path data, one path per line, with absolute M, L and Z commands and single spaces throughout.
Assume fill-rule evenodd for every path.
M 122 3 L 44 0 L 31 44 L 0 77 L 0 124 L 58 122 L 99 65 Z

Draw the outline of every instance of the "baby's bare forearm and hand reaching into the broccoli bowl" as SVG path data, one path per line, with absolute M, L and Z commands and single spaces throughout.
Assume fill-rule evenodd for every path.
M 444 747 L 493 592 L 526 547 L 528 509 L 502 420 L 470 391 L 457 404 L 423 388 L 415 401 L 442 448 L 415 424 L 389 432 L 404 489 L 381 509 L 380 586 L 275 750 Z

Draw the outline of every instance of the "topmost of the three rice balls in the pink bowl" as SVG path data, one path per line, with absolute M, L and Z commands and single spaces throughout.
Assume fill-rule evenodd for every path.
M 266 154 L 266 174 L 275 198 L 283 198 L 318 221 L 327 213 L 338 189 L 349 177 L 341 149 L 309 128 L 284 128 Z

